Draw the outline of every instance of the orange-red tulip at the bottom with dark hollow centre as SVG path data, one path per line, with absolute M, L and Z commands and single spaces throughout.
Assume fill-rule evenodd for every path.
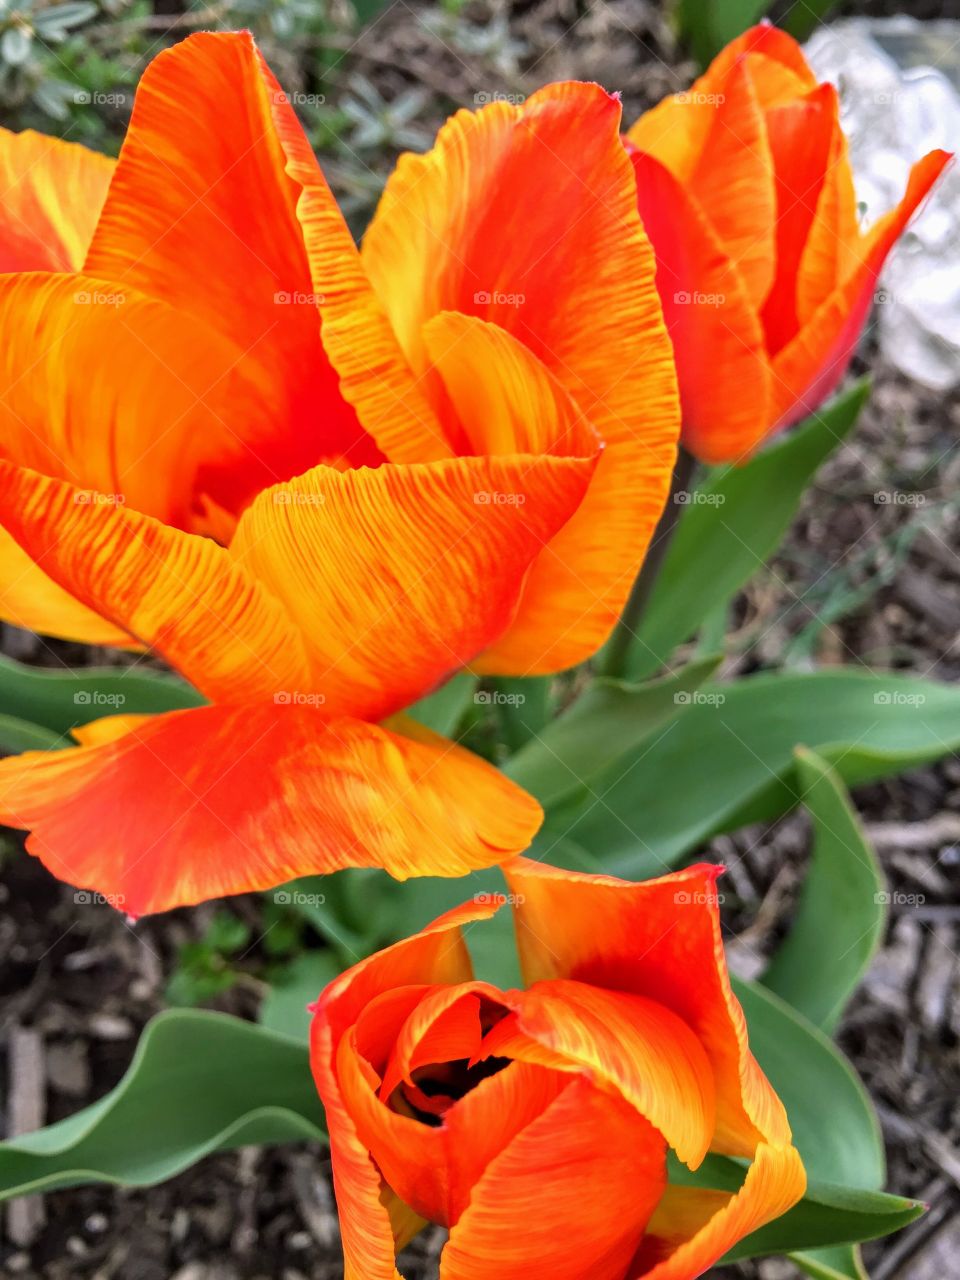
M 522 991 L 474 979 L 475 901 L 361 961 L 315 1006 L 346 1280 L 449 1228 L 440 1280 L 691 1280 L 795 1204 L 805 1174 L 748 1047 L 718 868 L 643 884 L 504 868 Z M 749 1161 L 739 1192 L 667 1151 Z

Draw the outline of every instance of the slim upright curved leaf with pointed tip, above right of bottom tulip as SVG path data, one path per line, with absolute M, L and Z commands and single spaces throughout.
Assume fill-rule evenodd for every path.
M 796 753 L 814 824 L 813 860 L 786 940 L 763 984 L 832 1033 L 883 934 L 883 873 L 844 785 L 813 751 Z

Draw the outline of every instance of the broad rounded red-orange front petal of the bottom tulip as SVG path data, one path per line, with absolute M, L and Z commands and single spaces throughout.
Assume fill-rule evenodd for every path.
M 660 1135 L 575 1076 L 486 1166 L 440 1280 L 623 1280 L 664 1183 Z

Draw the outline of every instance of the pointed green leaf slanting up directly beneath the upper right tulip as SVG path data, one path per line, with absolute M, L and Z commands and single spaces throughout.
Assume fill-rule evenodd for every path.
M 631 645 L 627 675 L 641 680 L 669 660 L 718 605 L 780 545 L 810 477 L 856 421 L 859 383 L 742 467 L 714 470 L 684 512 Z

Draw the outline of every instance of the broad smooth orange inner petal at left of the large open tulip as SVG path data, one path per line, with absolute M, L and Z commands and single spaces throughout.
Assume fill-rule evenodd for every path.
M 0 456 L 182 526 L 273 406 L 216 330 L 129 285 L 0 276 Z

